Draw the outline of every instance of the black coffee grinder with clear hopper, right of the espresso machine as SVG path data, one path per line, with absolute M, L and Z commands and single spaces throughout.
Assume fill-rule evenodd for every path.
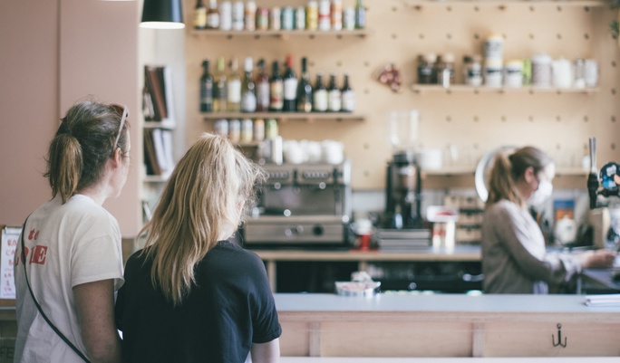
M 417 110 L 390 113 L 390 142 L 394 149 L 385 182 L 383 228 L 421 228 L 421 173 L 416 160 Z

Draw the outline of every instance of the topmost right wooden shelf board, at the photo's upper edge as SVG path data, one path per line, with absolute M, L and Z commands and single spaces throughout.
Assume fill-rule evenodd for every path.
M 608 6 L 606 0 L 410 0 L 407 5 L 416 10 L 423 9 L 424 6 L 450 6 L 450 5 L 473 5 L 473 6 L 497 6 L 500 10 L 505 10 L 511 5 L 523 6 L 571 6 L 571 7 L 596 7 Z

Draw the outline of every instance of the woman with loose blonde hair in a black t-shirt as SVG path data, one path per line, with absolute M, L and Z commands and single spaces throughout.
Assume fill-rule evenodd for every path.
M 127 362 L 276 362 L 281 334 L 265 265 L 228 242 L 264 172 L 203 134 L 175 167 L 116 303 Z M 141 234 L 141 233 L 140 233 Z

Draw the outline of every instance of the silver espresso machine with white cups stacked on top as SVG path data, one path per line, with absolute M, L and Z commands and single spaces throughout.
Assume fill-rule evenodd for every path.
M 267 164 L 243 228 L 248 247 L 349 247 L 351 164 Z

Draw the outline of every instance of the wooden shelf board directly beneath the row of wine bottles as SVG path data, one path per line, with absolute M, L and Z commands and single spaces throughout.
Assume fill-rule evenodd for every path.
M 280 119 L 287 120 L 356 120 L 363 121 L 365 116 L 356 113 L 347 112 L 217 112 L 217 113 L 201 113 L 200 117 L 205 121 L 214 119 Z

